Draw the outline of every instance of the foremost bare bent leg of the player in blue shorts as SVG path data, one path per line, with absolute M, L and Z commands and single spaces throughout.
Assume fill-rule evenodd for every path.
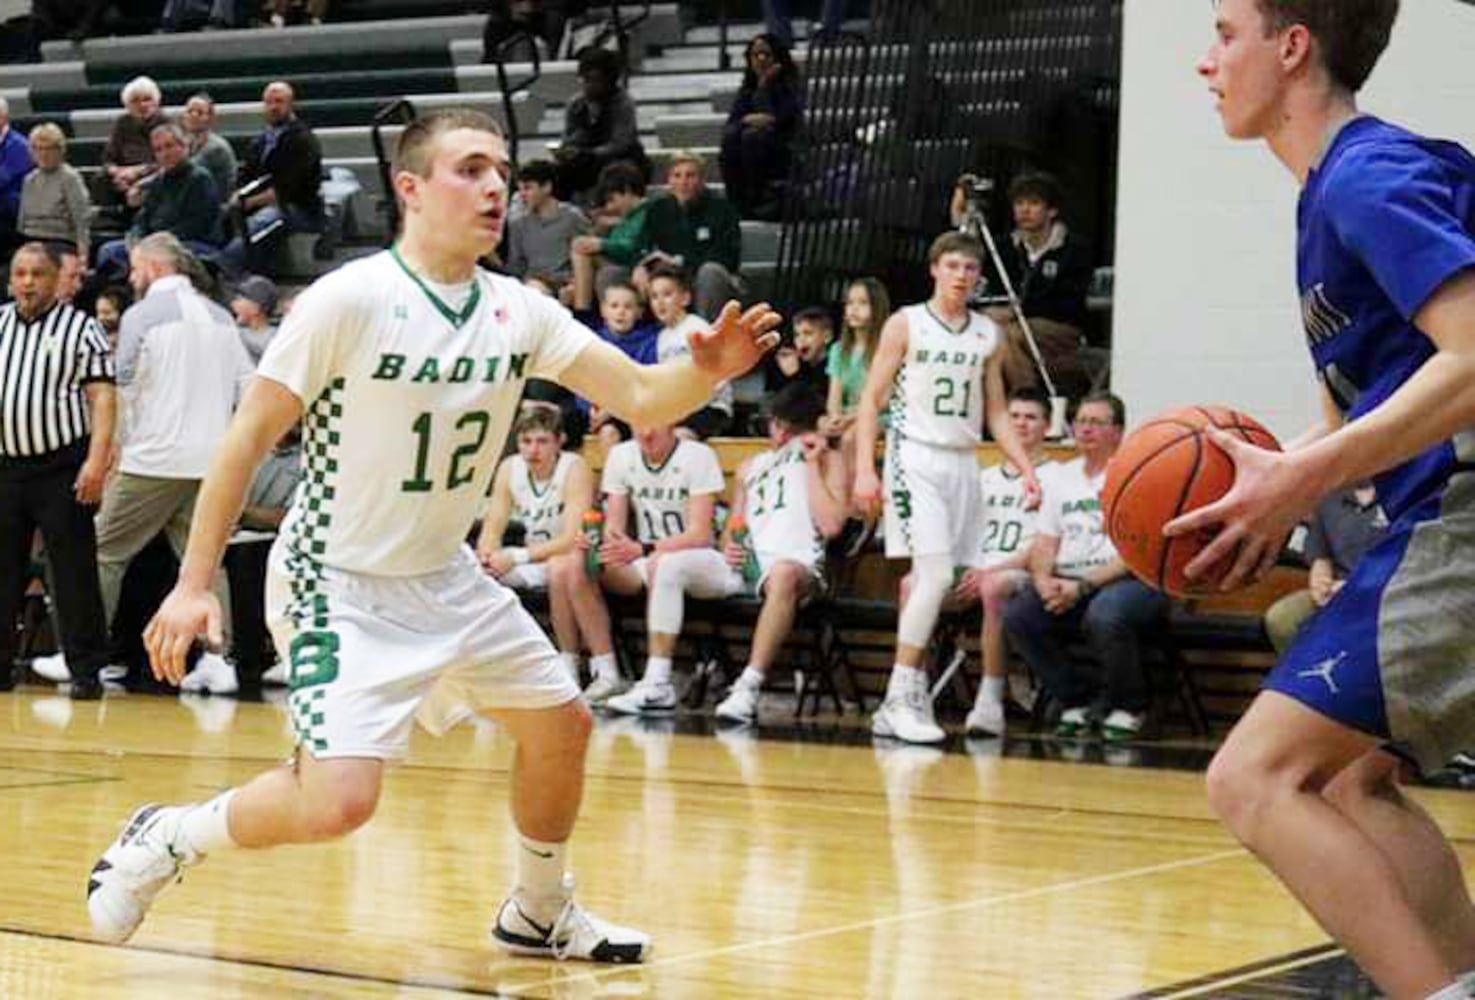
M 1376 749 L 1276 690 L 1251 705 L 1214 757 L 1214 811 L 1392 997 L 1428 997 L 1459 972 L 1441 953 L 1378 841 L 1325 792 Z

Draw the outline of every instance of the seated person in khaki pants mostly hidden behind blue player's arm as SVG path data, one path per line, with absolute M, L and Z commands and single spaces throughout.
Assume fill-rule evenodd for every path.
M 1317 504 L 1305 537 L 1305 558 L 1311 563 L 1307 588 L 1286 594 L 1266 611 L 1266 634 L 1276 653 L 1283 653 L 1301 625 L 1330 603 L 1386 529 L 1388 516 L 1372 482 L 1339 490 Z

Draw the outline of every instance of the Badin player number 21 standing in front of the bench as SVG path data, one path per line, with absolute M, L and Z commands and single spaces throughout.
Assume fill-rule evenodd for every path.
M 886 699 L 870 720 L 876 736 L 940 743 L 922 655 L 957 566 L 978 553 L 978 459 L 982 422 L 1022 476 L 1028 506 L 1038 506 L 1034 466 L 1009 425 L 1000 372 L 999 327 L 968 308 L 984 248 L 965 233 L 944 233 L 928 254 L 932 298 L 891 316 L 856 417 L 856 501 L 881 503 L 872 441 L 891 403 L 885 459 L 886 558 L 912 559 L 912 593 L 897 625 L 897 662 Z

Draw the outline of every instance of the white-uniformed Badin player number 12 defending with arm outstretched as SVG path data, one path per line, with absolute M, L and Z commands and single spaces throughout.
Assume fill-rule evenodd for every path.
M 252 471 L 302 420 L 307 476 L 267 586 L 298 752 L 206 802 L 134 813 L 87 886 L 99 938 L 131 937 L 180 869 L 208 854 L 357 829 L 417 717 L 438 730 L 476 711 L 516 742 L 516 870 L 494 940 L 597 962 L 649 951 L 648 935 L 572 898 L 565 851 L 589 708 L 516 596 L 463 540 L 527 378 L 555 379 L 621 419 L 673 422 L 752 367 L 776 342 L 779 317 L 729 304 L 692 360 L 634 364 L 552 299 L 476 267 L 502 239 L 509 168 L 502 131 L 481 112 L 437 111 L 406 127 L 392 174 L 404 209 L 395 248 L 316 282 L 267 348 L 145 645 L 155 674 L 178 683 L 190 646 L 220 640 L 209 581 Z

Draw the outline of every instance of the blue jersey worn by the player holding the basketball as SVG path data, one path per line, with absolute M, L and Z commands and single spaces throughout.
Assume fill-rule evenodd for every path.
M 1475 267 L 1475 156 L 1357 118 L 1307 177 L 1297 223 L 1311 357 L 1332 400 L 1356 419 L 1434 355 L 1413 316 Z M 1378 475 L 1378 499 L 1397 519 L 1472 463 L 1475 428 Z

